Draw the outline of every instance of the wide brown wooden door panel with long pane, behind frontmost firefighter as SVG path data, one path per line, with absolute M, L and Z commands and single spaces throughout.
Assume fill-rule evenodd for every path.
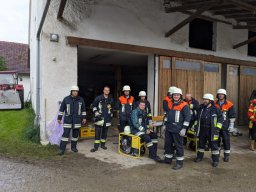
M 172 85 L 179 87 L 183 95 L 191 93 L 201 100 L 203 94 L 202 63 L 198 60 L 173 58 Z

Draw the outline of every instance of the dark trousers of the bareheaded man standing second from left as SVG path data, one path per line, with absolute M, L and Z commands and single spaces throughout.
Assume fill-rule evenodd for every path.
M 98 149 L 100 144 L 101 146 L 105 146 L 107 135 L 108 127 L 106 124 L 103 126 L 95 125 L 94 149 Z

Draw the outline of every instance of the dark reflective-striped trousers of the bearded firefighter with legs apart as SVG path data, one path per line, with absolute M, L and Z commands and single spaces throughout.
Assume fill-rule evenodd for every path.
M 199 144 L 198 144 L 198 152 L 197 152 L 197 158 L 203 159 L 204 157 L 204 151 L 205 151 L 205 144 L 209 142 L 209 146 L 211 148 L 212 152 L 212 161 L 213 162 L 219 162 L 219 147 L 218 147 L 218 140 L 212 141 L 211 139 L 211 133 L 210 132 L 200 132 L 199 134 Z

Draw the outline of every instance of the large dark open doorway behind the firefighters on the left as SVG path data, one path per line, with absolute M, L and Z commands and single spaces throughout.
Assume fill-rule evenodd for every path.
M 123 85 L 130 85 L 131 94 L 138 99 L 139 91 L 147 91 L 147 74 L 147 55 L 78 47 L 78 85 L 87 109 L 105 85 L 110 86 L 115 101 Z

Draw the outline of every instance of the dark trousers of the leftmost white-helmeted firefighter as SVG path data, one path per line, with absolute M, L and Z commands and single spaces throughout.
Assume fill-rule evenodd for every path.
M 76 149 L 78 135 L 79 135 L 79 128 L 71 129 L 71 128 L 64 128 L 64 132 L 62 134 L 61 142 L 60 142 L 60 150 L 65 151 L 66 145 L 68 143 L 70 131 L 72 130 L 72 138 L 71 138 L 71 149 Z

